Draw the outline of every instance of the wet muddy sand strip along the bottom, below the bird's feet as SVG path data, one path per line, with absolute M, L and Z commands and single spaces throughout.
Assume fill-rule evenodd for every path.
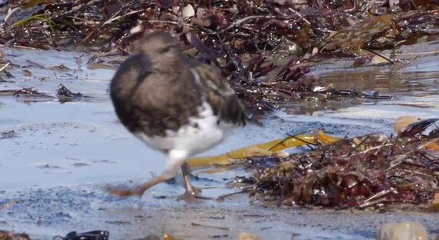
M 243 196 L 192 205 L 152 194 L 140 201 L 115 200 L 99 192 L 100 187 L 58 187 L 13 195 L 19 202 L 5 210 L 8 219 L 1 219 L 0 228 L 23 230 L 36 239 L 97 229 L 108 230 L 110 239 L 141 239 L 151 234 L 235 239 L 239 232 L 261 239 L 375 239 L 383 223 L 417 221 L 431 235 L 439 234 L 436 214 L 272 208 L 251 205 Z

